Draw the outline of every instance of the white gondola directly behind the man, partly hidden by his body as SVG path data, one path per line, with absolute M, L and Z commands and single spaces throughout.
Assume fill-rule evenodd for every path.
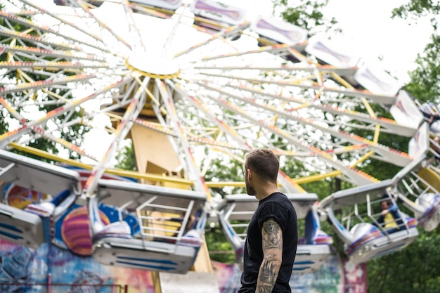
M 299 240 L 293 271 L 309 273 L 320 268 L 330 256 L 332 238 L 323 233 L 313 205 L 318 200 L 315 194 L 287 194 L 297 211 L 298 219 L 305 219 L 305 237 Z M 242 265 L 247 225 L 258 200 L 249 195 L 227 195 L 219 206 L 219 223 L 226 238 L 235 250 L 235 259 Z

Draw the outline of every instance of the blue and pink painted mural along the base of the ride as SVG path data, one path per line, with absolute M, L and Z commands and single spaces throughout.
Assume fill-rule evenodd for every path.
M 221 293 L 240 287 L 234 264 L 212 261 Z M 128 285 L 129 293 L 154 293 L 148 271 L 104 266 L 91 257 L 77 256 L 54 245 L 32 250 L 0 240 L 0 292 L 112 293 L 112 285 Z M 365 265 L 353 265 L 332 256 L 318 271 L 292 274 L 293 293 L 366 293 Z

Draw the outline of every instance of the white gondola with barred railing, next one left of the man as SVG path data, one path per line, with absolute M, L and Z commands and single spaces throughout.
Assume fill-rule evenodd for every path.
M 202 246 L 206 200 L 192 190 L 101 179 L 89 200 L 93 258 L 109 266 L 186 273 Z M 106 225 L 99 214 L 111 210 L 119 216 Z

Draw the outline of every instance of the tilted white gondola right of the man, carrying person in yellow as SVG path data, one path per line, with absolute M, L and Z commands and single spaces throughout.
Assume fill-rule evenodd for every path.
M 399 211 L 399 230 L 389 232 L 377 222 L 382 197 L 391 190 L 393 180 L 340 190 L 325 197 L 320 211 L 344 242 L 344 252 L 352 263 L 363 263 L 391 254 L 409 245 L 418 236 L 417 221 Z M 389 197 L 392 202 L 394 199 Z

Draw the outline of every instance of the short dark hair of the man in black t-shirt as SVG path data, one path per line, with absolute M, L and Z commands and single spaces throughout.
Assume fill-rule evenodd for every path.
M 276 183 L 280 161 L 271 150 L 259 148 L 246 155 L 245 169 L 251 169 L 260 178 Z

